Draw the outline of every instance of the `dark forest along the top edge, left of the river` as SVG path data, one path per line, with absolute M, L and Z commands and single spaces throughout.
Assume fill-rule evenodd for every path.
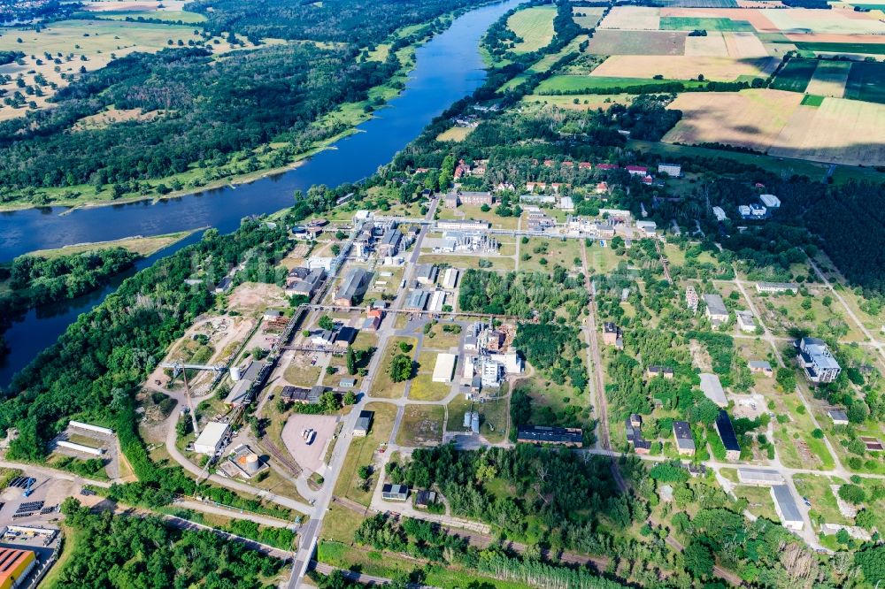
M 366 46 L 384 40 L 397 28 L 423 23 L 445 12 L 472 5 L 469 0 L 324 0 L 284 2 L 196 0 L 185 10 L 204 14 L 213 34 L 228 31 L 250 39 L 313 39 Z

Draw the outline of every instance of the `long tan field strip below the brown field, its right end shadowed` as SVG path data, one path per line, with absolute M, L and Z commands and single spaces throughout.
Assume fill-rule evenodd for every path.
M 777 67 L 771 57 L 743 58 L 704 56 L 616 55 L 596 67 L 591 76 L 610 78 L 653 78 L 692 80 L 703 74 L 707 80 L 734 81 L 739 76 L 767 77 Z

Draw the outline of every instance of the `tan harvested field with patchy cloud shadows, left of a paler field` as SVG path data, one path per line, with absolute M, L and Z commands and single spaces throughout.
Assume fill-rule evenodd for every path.
M 663 141 L 724 143 L 764 152 L 781 134 L 802 97 L 770 89 L 681 94 L 667 108 L 682 111 L 682 119 Z

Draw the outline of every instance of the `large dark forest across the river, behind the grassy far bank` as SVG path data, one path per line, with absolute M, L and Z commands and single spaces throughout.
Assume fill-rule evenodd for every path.
M 83 184 L 138 193 L 140 181 L 194 168 L 202 182 L 214 168 L 268 142 L 288 149 L 271 159 L 277 167 L 344 129 L 316 120 L 338 104 L 358 102 L 387 80 L 399 62 L 357 62 L 349 47 L 312 43 L 231 53 L 223 60 L 202 48 L 134 53 L 86 73 L 58 92 L 57 108 L 0 123 L 0 201 L 20 190 Z M 74 124 L 113 105 L 162 116 L 78 130 Z M 126 149 L 120 149 L 121 146 Z M 264 163 L 252 154 L 244 163 Z M 181 186 L 158 185 L 162 194 Z

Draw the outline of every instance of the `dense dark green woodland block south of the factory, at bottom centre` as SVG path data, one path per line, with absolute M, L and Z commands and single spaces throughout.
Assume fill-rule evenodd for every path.
M 518 445 L 459 452 L 450 445 L 419 448 L 388 476 L 415 488 L 439 487 L 452 515 L 495 524 L 507 537 L 540 535 L 545 544 L 603 554 L 597 536 L 647 516 L 642 503 L 619 492 L 607 458 Z M 504 485 L 508 493 L 491 489 Z

